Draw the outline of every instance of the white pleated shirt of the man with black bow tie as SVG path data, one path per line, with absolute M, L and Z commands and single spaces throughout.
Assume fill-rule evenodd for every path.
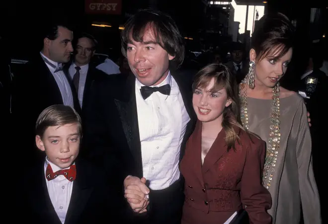
M 169 96 L 154 92 L 144 100 L 140 93 L 143 84 L 138 79 L 135 83 L 143 176 L 153 190 L 167 188 L 179 179 L 180 148 L 190 120 L 170 74 L 157 86 L 165 84 L 171 86 Z

